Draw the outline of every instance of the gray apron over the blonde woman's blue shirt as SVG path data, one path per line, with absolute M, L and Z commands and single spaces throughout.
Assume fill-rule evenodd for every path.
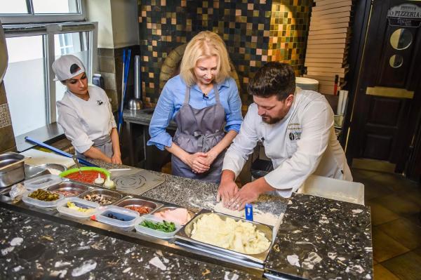
M 215 92 L 215 105 L 203 109 L 194 109 L 189 105 L 190 88 L 187 87 L 184 103 L 175 116 L 177 131 L 175 131 L 173 142 L 189 154 L 208 152 L 225 136 L 225 109 L 220 103 L 220 95 L 216 84 L 213 85 L 213 91 Z M 178 159 L 177 156 L 172 155 L 173 175 L 218 184 L 221 180 L 224 155 L 225 151 L 221 152 L 210 165 L 210 169 L 206 173 L 200 174 L 193 173 L 192 168 Z

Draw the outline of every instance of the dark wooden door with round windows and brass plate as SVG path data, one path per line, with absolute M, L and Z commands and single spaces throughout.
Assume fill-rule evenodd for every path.
M 417 20 L 388 15 L 415 16 L 403 12 L 421 11 L 420 6 L 420 1 L 372 1 L 347 142 L 353 160 L 388 162 L 399 173 L 420 114 L 421 27 L 399 26 Z

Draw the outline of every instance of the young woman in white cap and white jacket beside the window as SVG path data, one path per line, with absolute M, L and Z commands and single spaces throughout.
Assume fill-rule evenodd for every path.
M 67 87 L 57 102 L 58 124 L 79 156 L 121 164 L 119 135 L 107 94 L 88 86 L 85 66 L 74 55 L 53 62 L 55 81 Z

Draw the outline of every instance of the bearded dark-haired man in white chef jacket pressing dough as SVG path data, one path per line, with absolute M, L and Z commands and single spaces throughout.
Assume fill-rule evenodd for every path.
M 232 209 L 271 192 L 289 197 L 311 174 L 352 181 L 345 153 L 333 128 L 333 111 L 315 91 L 295 88 L 293 68 L 269 62 L 248 84 L 254 103 L 225 154 L 219 201 Z M 234 180 L 258 141 L 274 171 L 239 189 Z

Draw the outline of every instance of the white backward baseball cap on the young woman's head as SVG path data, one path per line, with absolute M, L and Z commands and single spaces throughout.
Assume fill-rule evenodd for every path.
M 83 62 L 74 55 L 62 55 L 53 62 L 54 81 L 65 81 L 86 72 Z

